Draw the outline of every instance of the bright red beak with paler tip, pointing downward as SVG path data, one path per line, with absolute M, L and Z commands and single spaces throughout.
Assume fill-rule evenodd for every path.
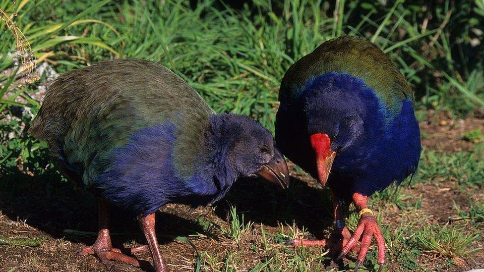
M 336 157 L 336 152 L 329 149 L 331 147 L 331 140 L 327 134 L 312 134 L 310 139 L 312 149 L 316 154 L 316 169 L 318 179 L 321 185 L 324 187 L 326 181 L 328 180 L 334 157 Z

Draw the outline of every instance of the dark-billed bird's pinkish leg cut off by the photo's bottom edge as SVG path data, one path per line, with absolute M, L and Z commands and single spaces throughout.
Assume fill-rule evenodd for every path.
M 155 233 L 155 213 L 138 218 L 143 230 L 148 247 L 151 251 L 151 257 L 153 257 L 153 267 L 156 272 L 168 272 L 168 267 L 161 257 L 160 248 L 158 247 L 158 241 Z

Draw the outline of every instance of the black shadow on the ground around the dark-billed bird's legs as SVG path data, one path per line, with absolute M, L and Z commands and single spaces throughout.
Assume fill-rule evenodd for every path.
M 44 177 L 44 178 L 43 178 Z M 88 192 L 60 176 L 32 177 L 20 172 L 3 175 L 0 180 L 0 210 L 12 221 L 24 221 L 54 238 L 92 244 L 95 236 L 69 235 L 65 229 L 97 232 L 97 201 Z M 144 244 L 135 215 L 110 207 L 113 246 L 126 240 Z M 167 213 L 157 214 L 157 230 L 163 234 L 186 236 L 202 232 L 196 222 Z M 82 234 L 79 232 L 79 234 Z M 160 244 L 172 239 L 160 237 Z

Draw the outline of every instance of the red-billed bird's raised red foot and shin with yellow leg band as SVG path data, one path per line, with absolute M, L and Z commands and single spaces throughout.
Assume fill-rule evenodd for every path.
M 341 254 L 338 256 L 337 260 L 345 256 L 357 243 L 357 241 L 362 238 L 362 244 L 360 247 L 360 253 L 358 254 L 355 272 L 358 271 L 358 268 L 363 263 L 364 259 L 366 258 L 366 253 L 368 252 L 368 247 L 371 243 L 371 238 L 374 236 L 378 245 L 378 264 L 379 268 L 378 271 L 381 271 L 383 268 L 383 264 L 385 263 L 385 240 L 383 235 L 381 235 L 380 228 L 376 222 L 376 218 L 371 214 L 371 210 L 367 207 L 367 200 L 366 196 L 363 196 L 360 193 L 353 194 L 353 201 L 359 211 L 367 210 L 364 212 L 358 223 L 358 226 L 355 230 L 355 233 L 351 236 L 348 240 L 348 243 L 345 244 L 343 249 L 341 250 Z

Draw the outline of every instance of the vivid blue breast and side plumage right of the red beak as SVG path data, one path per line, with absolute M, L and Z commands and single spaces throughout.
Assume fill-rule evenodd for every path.
M 349 178 L 353 180 L 354 192 L 369 196 L 415 173 L 421 153 L 420 129 L 412 103 L 407 100 L 387 126 L 384 116 L 370 117 L 364 122 L 367 128 L 382 129 L 370 130 L 353 148 L 337 156 L 332 172 L 338 174 L 336 182 L 338 178 Z

